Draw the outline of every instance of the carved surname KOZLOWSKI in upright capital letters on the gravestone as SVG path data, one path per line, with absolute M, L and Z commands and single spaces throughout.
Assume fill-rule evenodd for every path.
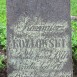
M 53 39 L 13 39 L 14 48 L 58 48 L 65 47 L 65 39 L 53 38 Z

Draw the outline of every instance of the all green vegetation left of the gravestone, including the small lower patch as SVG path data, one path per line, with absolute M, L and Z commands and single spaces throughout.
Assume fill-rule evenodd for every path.
M 6 48 L 6 0 L 0 0 L 0 49 Z M 0 70 L 5 67 L 4 55 L 0 52 Z

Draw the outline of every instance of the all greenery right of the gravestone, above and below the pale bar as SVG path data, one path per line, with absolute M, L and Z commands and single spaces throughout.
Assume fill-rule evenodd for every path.
M 77 16 L 77 0 L 71 0 L 71 15 Z M 77 61 L 77 21 L 71 21 L 71 27 L 73 59 Z

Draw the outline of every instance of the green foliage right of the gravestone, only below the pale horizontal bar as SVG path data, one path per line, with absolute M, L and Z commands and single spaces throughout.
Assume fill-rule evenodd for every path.
M 72 21 L 72 53 L 73 59 L 77 61 L 77 22 Z

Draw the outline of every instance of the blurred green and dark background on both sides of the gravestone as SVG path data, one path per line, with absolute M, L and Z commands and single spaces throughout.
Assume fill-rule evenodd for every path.
M 72 58 L 77 75 L 77 0 L 70 0 Z M 6 0 L 0 0 L 0 77 L 6 76 Z M 77 77 L 77 76 L 76 76 Z

